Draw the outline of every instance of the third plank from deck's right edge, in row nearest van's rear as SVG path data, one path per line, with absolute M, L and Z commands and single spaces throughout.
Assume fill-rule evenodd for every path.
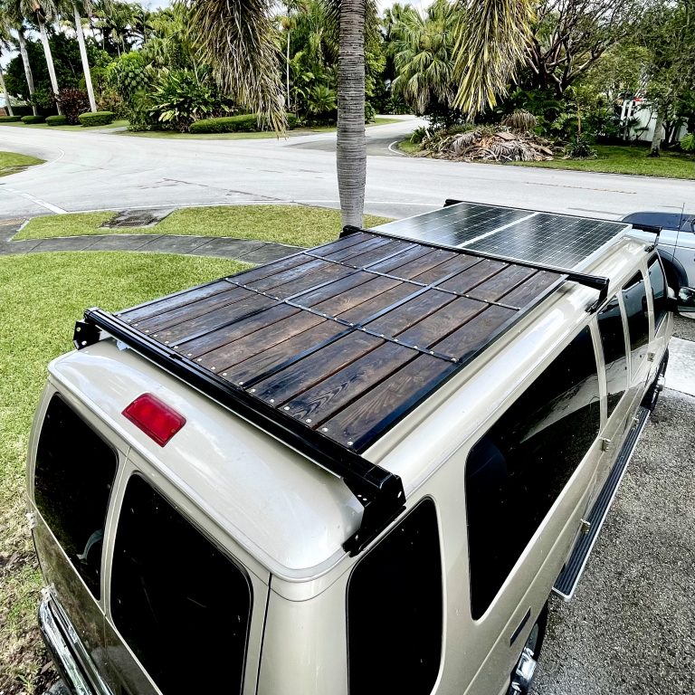
M 356 331 L 259 382 L 256 396 L 271 405 L 281 405 L 383 344 L 381 338 Z

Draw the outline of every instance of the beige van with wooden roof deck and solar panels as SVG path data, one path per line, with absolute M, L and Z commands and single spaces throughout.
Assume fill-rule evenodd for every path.
M 452 203 L 87 310 L 28 462 L 66 687 L 528 692 L 662 388 L 629 232 Z

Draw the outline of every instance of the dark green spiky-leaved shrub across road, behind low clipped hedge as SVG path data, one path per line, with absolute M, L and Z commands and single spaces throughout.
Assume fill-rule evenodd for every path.
M 149 113 L 162 129 L 186 133 L 196 120 L 229 111 L 214 84 L 198 81 L 192 71 L 162 71 L 159 80 Z

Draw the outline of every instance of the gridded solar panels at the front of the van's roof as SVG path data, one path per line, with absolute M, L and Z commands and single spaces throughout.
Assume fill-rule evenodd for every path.
M 374 231 L 572 269 L 627 226 L 566 214 L 458 203 L 382 224 Z

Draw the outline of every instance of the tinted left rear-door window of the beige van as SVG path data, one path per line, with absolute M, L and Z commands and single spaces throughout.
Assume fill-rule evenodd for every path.
M 106 512 L 118 464 L 116 452 L 54 395 L 36 451 L 34 500 L 97 599 Z

